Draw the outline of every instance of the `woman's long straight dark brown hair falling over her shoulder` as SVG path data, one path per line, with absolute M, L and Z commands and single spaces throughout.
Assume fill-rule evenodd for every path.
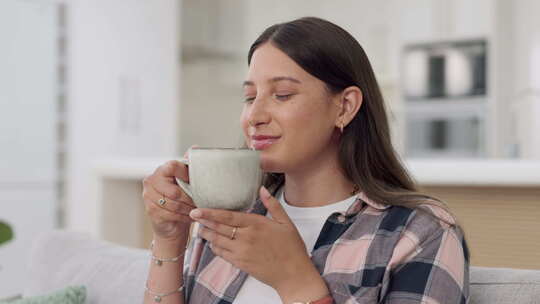
M 369 60 L 354 37 L 341 27 L 315 17 L 305 17 L 267 28 L 251 45 L 255 50 L 271 43 L 337 94 L 349 86 L 362 91 L 363 103 L 347 125 L 339 143 L 339 163 L 346 177 L 371 200 L 414 208 L 434 204 L 448 209 L 431 196 L 419 193 L 415 182 L 394 150 L 383 96 Z M 266 172 L 263 184 L 275 189 L 283 173 Z

